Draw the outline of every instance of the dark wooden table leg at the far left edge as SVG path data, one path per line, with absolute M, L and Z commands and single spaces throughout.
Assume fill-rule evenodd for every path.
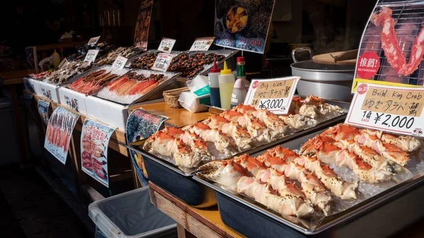
M 26 140 L 29 140 L 30 135 L 28 134 L 28 130 L 24 130 L 23 126 L 21 126 L 22 122 L 20 117 L 18 94 L 16 93 L 16 85 L 9 84 L 7 85 L 7 88 L 11 93 L 13 116 L 15 117 L 16 131 L 18 133 L 20 157 L 22 158 L 22 164 L 26 165 L 30 160 L 30 148 L 26 143 Z

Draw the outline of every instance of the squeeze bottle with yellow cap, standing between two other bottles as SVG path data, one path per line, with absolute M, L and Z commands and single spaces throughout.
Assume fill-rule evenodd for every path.
M 224 61 L 224 69 L 220 71 L 218 76 L 219 80 L 219 94 L 222 109 L 230 109 L 232 89 L 234 88 L 234 74 L 231 69 L 227 68 L 227 61 Z

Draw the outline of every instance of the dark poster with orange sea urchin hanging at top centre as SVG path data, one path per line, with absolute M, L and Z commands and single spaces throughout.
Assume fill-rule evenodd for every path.
M 264 53 L 275 0 L 216 0 L 215 44 Z

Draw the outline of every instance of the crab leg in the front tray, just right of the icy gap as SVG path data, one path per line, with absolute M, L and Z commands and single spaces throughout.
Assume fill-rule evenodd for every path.
M 315 136 L 305 143 L 300 151 L 301 155 L 317 157 L 327 165 L 334 164 L 348 167 L 359 177 L 362 182 L 377 183 L 390 180 L 391 172 L 373 169 L 354 153 L 340 149 L 336 141 L 326 136 Z

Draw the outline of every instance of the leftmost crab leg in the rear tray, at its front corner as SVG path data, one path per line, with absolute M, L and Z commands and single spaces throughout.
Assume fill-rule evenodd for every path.
M 201 162 L 201 157 L 189 150 L 180 139 L 163 131 L 158 131 L 148 138 L 143 150 L 155 155 L 170 156 L 177 166 L 196 167 Z

